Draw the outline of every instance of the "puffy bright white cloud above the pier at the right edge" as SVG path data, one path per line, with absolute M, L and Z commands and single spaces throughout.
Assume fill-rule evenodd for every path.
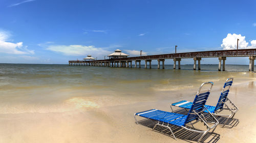
M 248 42 L 245 40 L 245 36 L 241 34 L 227 34 L 227 37 L 222 40 L 221 47 L 223 50 L 231 50 L 237 49 L 237 39 L 238 41 L 238 48 L 239 49 L 249 49 L 249 48 L 256 48 L 256 40 L 251 41 L 251 46 L 248 46 Z

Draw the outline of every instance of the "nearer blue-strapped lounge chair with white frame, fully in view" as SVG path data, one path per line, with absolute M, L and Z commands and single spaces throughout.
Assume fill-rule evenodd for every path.
M 203 90 L 201 93 L 201 89 L 202 89 L 203 85 L 206 85 L 206 84 L 208 84 L 210 86 L 210 88 L 206 91 Z M 203 136 L 209 130 L 213 129 L 212 130 L 212 132 L 213 132 L 215 130 L 215 128 L 217 127 L 217 125 L 219 124 L 218 120 L 213 115 L 211 115 L 211 113 L 209 112 L 210 116 L 216 121 L 216 122 L 212 122 L 212 123 L 214 123 L 214 125 L 210 127 L 207 124 L 207 121 L 202 114 L 203 111 L 207 110 L 207 108 L 204 108 L 204 105 L 205 105 L 205 102 L 210 94 L 212 85 L 214 85 L 214 83 L 212 83 L 212 82 L 202 83 L 201 87 L 199 88 L 199 90 L 197 92 L 197 95 L 195 97 L 193 105 L 190 107 L 188 115 L 181 115 L 179 113 L 167 112 L 167 111 L 162 111 L 162 110 L 158 110 L 158 109 L 151 109 L 151 110 L 134 113 L 134 119 L 137 124 L 138 124 L 138 121 L 136 119 L 136 116 L 140 116 L 140 117 L 144 117 L 147 119 L 158 121 L 158 123 L 154 126 L 153 130 L 155 129 L 156 126 L 162 126 L 162 127 L 168 128 L 175 139 L 176 139 L 176 137 L 175 137 L 172 129 L 169 127 L 169 125 L 174 125 L 174 126 L 178 126 L 178 127 L 181 127 L 183 129 L 186 129 L 189 131 L 202 133 L 202 136 L 198 140 L 198 142 L 200 142 L 201 139 L 203 138 Z M 195 122 L 192 123 L 193 121 L 195 121 Z M 197 123 L 198 121 L 203 122 L 204 125 L 207 126 L 207 130 L 202 131 L 202 130 L 195 129 L 193 124 Z M 190 127 L 189 125 L 191 125 L 193 127 L 193 129 L 189 128 Z

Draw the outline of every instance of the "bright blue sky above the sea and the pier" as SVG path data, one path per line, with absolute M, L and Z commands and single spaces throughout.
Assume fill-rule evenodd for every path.
M 177 52 L 233 49 L 237 38 L 240 48 L 256 48 L 255 34 L 256 1 L 0 1 L 0 63 L 67 64 L 115 49 L 174 53 L 175 45 Z

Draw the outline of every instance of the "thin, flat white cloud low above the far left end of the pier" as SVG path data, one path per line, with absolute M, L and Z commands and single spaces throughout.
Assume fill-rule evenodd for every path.
M 105 50 L 104 48 L 97 48 L 93 45 L 49 45 L 46 47 L 47 50 L 58 52 L 64 55 L 75 55 L 75 56 L 86 56 L 92 54 L 93 56 L 103 57 L 108 55 L 111 51 Z

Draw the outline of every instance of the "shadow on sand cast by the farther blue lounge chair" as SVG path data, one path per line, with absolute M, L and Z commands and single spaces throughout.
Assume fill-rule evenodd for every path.
M 182 114 L 182 115 L 187 115 L 187 114 L 188 114 L 188 111 L 189 111 L 189 110 L 187 110 L 187 109 L 181 108 L 181 109 L 177 109 L 177 110 L 175 110 L 175 111 L 173 111 L 173 112 L 175 112 L 175 113 L 180 113 L 180 114 Z M 213 121 L 213 119 L 209 116 L 208 113 L 204 113 L 204 116 L 205 116 L 205 118 L 206 118 L 206 120 L 207 120 L 208 122 Z M 228 119 L 228 118 L 226 118 L 226 117 L 216 117 L 216 119 L 219 121 L 219 126 L 223 126 L 224 123 L 226 122 L 226 120 L 228 120 L 227 123 L 226 123 L 226 125 L 225 125 L 223 128 L 231 129 L 231 128 L 233 128 L 233 127 L 236 127 L 236 126 L 239 124 L 239 120 L 238 120 L 238 119 L 234 119 L 234 118 Z

